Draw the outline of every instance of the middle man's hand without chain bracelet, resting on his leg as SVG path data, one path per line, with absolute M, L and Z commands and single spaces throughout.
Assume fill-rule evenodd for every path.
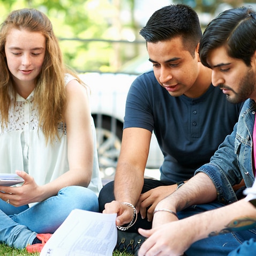
M 176 187 L 176 184 L 170 186 L 159 186 L 141 194 L 137 202 L 136 209 L 140 212 L 142 219 L 147 217 L 148 221 L 152 221 L 156 205 L 162 199 L 174 192 Z M 148 210 L 147 207 L 149 207 Z

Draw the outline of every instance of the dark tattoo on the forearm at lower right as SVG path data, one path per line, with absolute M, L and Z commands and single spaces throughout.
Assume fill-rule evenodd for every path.
M 244 217 L 243 219 L 233 220 L 226 226 L 227 228 L 222 229 L 220 232 L 211 232 L 210 236 L 217 236 L 221 234 L 227 234 L 230 232 L 242 231 L 247 229 L 256 228 L 256 219 Z

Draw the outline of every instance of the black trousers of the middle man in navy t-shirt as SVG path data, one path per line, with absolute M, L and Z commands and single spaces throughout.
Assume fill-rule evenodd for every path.
M 155 179 L 144 179 L 144 186 L 142 188 L 141 193 L 145 193 L 155 187 L 159 186 L 168 186 L 172 185 L 173 183 L 164 182 L 162 180 L 155 180 Z M 114 195 L 114 182 L 109 182 L 103 186 L 100 194 L 99 194 L 99 207 L 100 212 L 102 213 L 104 210 L 104 205 L 107 202 L 111 202 L 115 200 Z M 127 231 L 128 232 L 137 232 L 138 228 L 150 229 L 152 227 L 152 222 L 148 222 L 146 219 L 142 220 L 140 214 L 138 214 L 138 219 L 136 223 Z

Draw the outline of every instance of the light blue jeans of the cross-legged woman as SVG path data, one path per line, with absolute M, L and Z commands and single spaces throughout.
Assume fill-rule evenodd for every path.
M 22 249 L 37 233 L 53 233 L 73 209 L 99 211 L 97 195 L 82 186 L 61 189 L 54 197 L 28 207 L 14 207 L 0 199 L 0 242 Z

